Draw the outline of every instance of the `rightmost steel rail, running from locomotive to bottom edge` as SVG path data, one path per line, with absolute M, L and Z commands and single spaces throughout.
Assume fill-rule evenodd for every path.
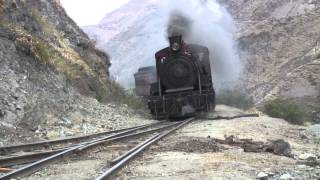
M 129 162 L 129 160 L 131 160 L 132 158 L 134 158 L 136 155 L 138 155 L 140 152 L 142 152 L 144 149 L 148 148 L 149 146 L 151 146 L 153 143 L 159 141 L 160 139 L 168 136 L 169 134 L 173 133 L 174 131 L 176 131 L 177 129 L 183 127 L 184 125 L 190 123 L 191 121 L 193 121 L 194 118 L 189 118 L 187 120 L 185 120 L 183 123 L 179 124 L 177 127 L 172 128 L 171 130 L 160 134 L 158 137 L 156 137 L 155 139 L 149 141 L 148 143 L 144 144 L 143 146 L 137 148 L 137 150 L 135 150 L 134 152 L 132 152 L 131 154 L 127 155 L 125 158 L 123 158 L 120 162 L 118 162 L 117 164 L 115 164 L 114 166 L 112 166 L 110 169 L 108 169 L 106 172 L 104 172 L 103 174 L 101 174 L 99 177 L 97 177 L 95 180 L 103 180 L 103 179 L 108 179 L 111 178 L 111 176 L 117 172 L 120 168 L 122 168 L 127 162 Z

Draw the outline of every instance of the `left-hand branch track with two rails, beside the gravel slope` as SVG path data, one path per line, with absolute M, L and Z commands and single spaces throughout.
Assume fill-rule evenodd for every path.
M 151 123 L 142 126 L 136 126 L 132 128 L 125 128 L 115 131 L 105 131 L 101 133 L 90 134 L 86 136 L 78 136 L 71 138 L 64 138 L 58 140 L 41 141 L 35 143 L 26 143 L 20 145 L 3 146 L 0 147 L 0 167 L 8 167 L 13 165 L 21 165 L 37 161 L 41 158 L 49 155 L 62 152 L 72 146 L 79 143 L 92 142 L 94 140 L 109 139 L 128 133 L 142 130 L 145 128 L 151 128 L 161 124 L 168 123 L 167 121 L 161 121 Z M 16 153 L 22 154 L 17 155 Z

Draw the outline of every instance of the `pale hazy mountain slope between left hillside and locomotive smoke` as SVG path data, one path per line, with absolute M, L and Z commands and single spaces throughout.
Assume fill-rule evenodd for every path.
M 83 27 L 101 49 L 110 52 L 110 70 L 120 83 L 133 83 L 137 69 L 153 65 L 154 52 L 167 45 L 164 17 L 159 16 L 154 0 L 132 0 L 107 14 L 99 25 Z

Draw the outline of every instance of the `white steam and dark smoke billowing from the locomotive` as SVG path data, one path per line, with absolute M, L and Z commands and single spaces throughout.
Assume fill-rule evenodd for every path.
M 242 63 L 235 47 L 235 26 L 227 10 L 215 0 L 167 0 L 167 36 L 182 35 L 187 43 L 210 50 L 214 86 L 232 88 L 238 84 Z

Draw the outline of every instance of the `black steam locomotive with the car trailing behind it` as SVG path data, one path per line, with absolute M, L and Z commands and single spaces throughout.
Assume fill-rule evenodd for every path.
M 155 54 L 156 66 L 135 76 L 136 93 L 147 99 L 155 119 L 194 116 L 215 109 L 209 50 L 169 37 L 170 46 Z

